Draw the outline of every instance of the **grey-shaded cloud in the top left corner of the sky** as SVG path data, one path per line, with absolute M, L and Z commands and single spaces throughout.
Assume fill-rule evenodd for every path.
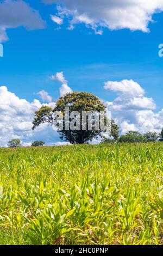
M 0 42 L 8 40 L 7 29 L 20 26 L 28 30 L 42 29 L 45 27 L 45 22 L 41 19 L 39 11 L 30 8 L 26 2 L 2 0 L 0 2 Z

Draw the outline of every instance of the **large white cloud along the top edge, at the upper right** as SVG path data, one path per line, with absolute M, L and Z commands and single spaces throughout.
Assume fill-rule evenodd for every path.
M 42 0 L 58 4 L 58 15 L 68 17 L 70 27 L 84 23 L 97 34 L 102 28 L 148 32 L 153 14 L 163 10 L 163 0 Z M 60 5 L 62 4 L 62 5 Z M 70 19 L 71 18 L 71 19 Z

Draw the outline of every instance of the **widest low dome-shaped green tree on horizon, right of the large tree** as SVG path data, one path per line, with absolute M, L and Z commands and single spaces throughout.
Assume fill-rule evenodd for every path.
M 141 135 L 140 132 L 129 131 L 126 135 L 122 135 L 119 142 L 135 143 L 135 142 L 147 142 L 146 138 Z

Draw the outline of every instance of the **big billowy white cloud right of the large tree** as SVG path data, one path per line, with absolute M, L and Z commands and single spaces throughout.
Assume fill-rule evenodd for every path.
M 160 132 L 163 127 L 163 109 L 159 113 L 154 112 L 154 100 L 145 96 L 146 92 L 140 84 L 133 80 L 108 81 L 104 89 L 117 93 L 114 101 L 105 104 L 112 118 L 120 125 L 122 133 L 130 130 Z

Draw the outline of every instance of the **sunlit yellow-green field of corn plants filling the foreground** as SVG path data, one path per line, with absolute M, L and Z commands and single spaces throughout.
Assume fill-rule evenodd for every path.
M 0 149 L 0 245 L 161 245 L 163 143 Z

